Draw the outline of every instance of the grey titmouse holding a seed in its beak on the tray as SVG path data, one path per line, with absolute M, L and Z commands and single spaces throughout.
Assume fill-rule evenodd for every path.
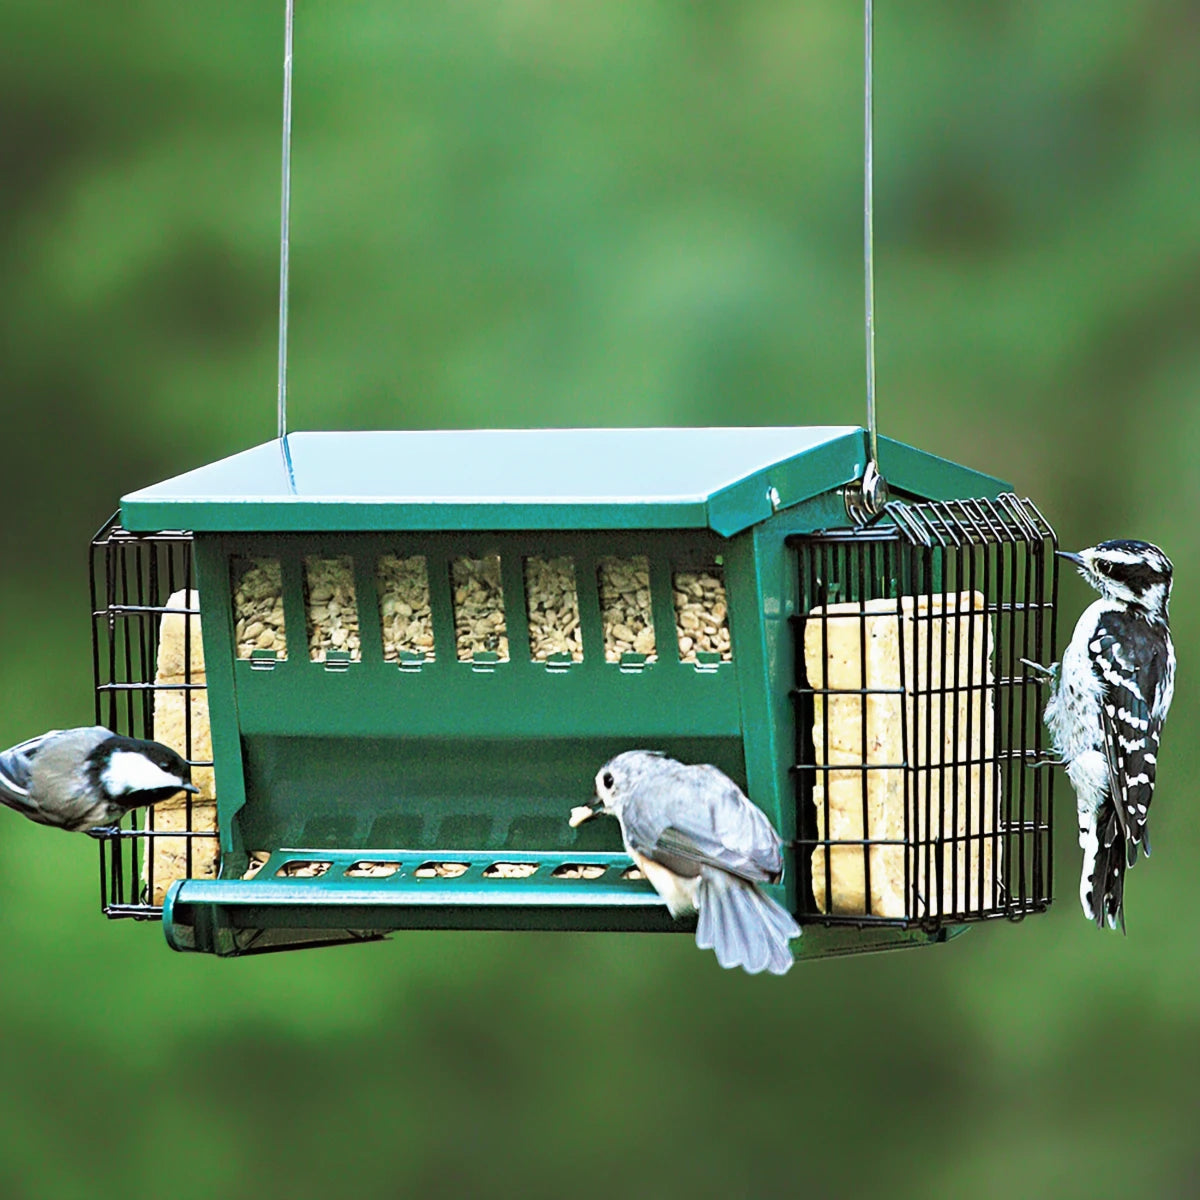
M 696 944 L 722 967 L 784 974 L 791 914 L 758 890 L 784 872 L 779 834 L 766 814 L 715 767 L 688 767 L 649 750 L 629 750 L 596 774 L 596 799 L 571 811 L 571 826 L 600 812 L 620 822 L 634 862 L 672 917 L 698 912 Z

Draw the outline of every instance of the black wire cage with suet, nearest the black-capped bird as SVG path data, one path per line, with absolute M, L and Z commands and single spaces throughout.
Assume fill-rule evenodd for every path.
M 217 858 L 216 822 L 204 820 L 212 757 L 192 535 L 131 534 L 114 517 L 92 539 L 89 565 L 96 724 L 168 742 L 202 785 L 196 798 L 180 793 L 170 805 L 133 810 L 119 836 L 100 842 L 104 914 L 157 919 L 167 887 L 215 874 Z M 161 662 L 163 622 L 170 620 L 181 625 L 182 653 Z

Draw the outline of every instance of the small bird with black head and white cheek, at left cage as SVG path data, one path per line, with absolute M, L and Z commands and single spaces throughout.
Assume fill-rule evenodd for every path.
M 130 809 L 198 791 L 169 746 L 102 725 L 50 730 L 0 754 L 0 804 L 38 824 L 95 838 L 114 833 Z

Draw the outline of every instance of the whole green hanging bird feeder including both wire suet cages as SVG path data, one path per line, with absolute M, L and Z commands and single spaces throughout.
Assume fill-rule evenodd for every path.
M 202 793 L 102 844 L 106 913 L 220 955 L 688 929 L 616 822 L 568 824 L 635 748 L 768 815 L 802 958 L 1043 911 L 1054 533 L 880 446 L 865 524 L 854 427 L 293 433 L 126 496 L 96 716 Z

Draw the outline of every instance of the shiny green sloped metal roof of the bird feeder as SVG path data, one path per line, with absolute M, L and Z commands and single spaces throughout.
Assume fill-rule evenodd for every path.
M 895 490 L 998 480 L 881 438 Z M 853 426 L 290 433 L 121 500 L 132 530 L 702 529 L 725 536 L 859 479 Z M 289 460 L 290 458 L 290 464 Z M 778 499 L 773 493 L 778 493 Z

